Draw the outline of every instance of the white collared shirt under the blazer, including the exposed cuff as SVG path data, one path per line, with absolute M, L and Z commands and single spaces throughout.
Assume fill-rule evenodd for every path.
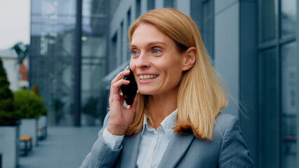
M 137 165 L 142 168 L 158 167 L 161 158 L 166 151 L 168 143 L 173 134 L 175 126 L 175 117 L 178 110 L 176 109 L 169 116 L 164 118 L 161 126 L 154 130 L 147 124 L 147 117 L 143 118 L 143 127 L 141 132 L 141 141 L 138 151 Z M 117 149 L 121 145 L 124 136 L 112 135 L 106 128 L 102 134 L 106 144 L 111 148 Z

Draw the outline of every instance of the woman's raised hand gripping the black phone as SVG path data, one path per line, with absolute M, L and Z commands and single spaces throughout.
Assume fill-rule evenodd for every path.
M 124 106 L 124 96 L 119 94 L 121 85 L 128 85 L 129 80 L 124 80 L 130 70 L 121 71 L 111 82 L 109 97 L 109 123 L 107 130 L 113 135 L 124 135 L 128 126 L 133 123 L 136 112 L 137 96 L 131 106 Z

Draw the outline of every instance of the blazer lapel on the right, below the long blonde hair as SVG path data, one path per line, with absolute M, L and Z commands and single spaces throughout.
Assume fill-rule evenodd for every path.
M 173 132 L 173 137 L 166 148 L 158 168 L 175 167 L 185 154 L 194 139 L 194 134 L 178 134 Z

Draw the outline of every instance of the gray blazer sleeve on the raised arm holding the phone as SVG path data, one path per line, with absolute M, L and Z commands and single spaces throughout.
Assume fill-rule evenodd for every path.
M 104 124 L 98 133 L 98 139 L 93 144 L 91 152 L 86 155 L 80 168 L 98 168 L 98 167 L 112 167 L 116 162 L 121 152 L 122 146 L 119 149 L 110 148 L 102 137 L 102 132 L 108 124 L 109 113 L 105 117 Z

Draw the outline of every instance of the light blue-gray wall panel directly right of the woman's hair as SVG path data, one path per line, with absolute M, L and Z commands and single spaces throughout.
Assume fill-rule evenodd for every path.
M 239 2 L 215 0 L 215 69 L 232 95 L 222 112 L 239 117 Z

